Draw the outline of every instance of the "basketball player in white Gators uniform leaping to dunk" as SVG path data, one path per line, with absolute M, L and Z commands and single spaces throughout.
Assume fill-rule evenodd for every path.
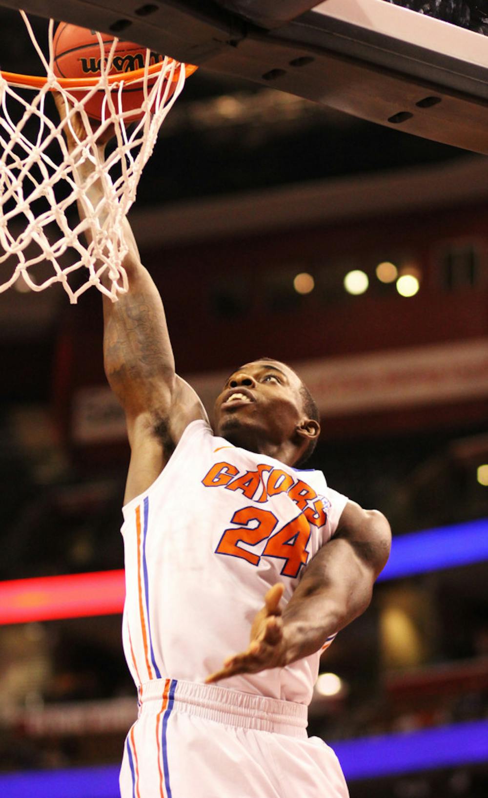
M 102 208 L 100 185 L 89 199 Z M 307 737 L 307 705 L 322 651 L 370 602 L 388 522 L 297 468 L 320 426 L 289 365 L 235 369 L 211 429 L 127 222 L 124 234 L 128 293 L 104 297 L 105 372 L 132 452 L 123 644 L 140 712 L 121 795 L 347 798 L 332 749 Z

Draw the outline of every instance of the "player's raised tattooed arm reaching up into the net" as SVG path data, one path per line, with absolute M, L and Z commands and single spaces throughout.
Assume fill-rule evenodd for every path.
M 56 98 L 61 118 L 65 105 Z M 85 128 L 77 115 L 72 127 L 79 138 Z M 75 140 L 66 128 L 68 148 Z M 98 139 L 104 150 L 110 132 Z M 78 168 L 78 177 L 89 188 L 78 199 L 78 211 L 85 218 L 84 202 L 99 208 L 103 223 L 104 191 L 100 180 L 90 180 L 94 167 L 85 160 Z M 90 231 L 85 231 L 90 238 Z M 128 472 L 125 501 L 144 492 L 155 480 L 184 429 L 191 421 L 206 418 L 203 405 L 190 385 L 175 373 L 163 302 L 148 270 L 140 262 L 134 235 L 124 219 L 124 237 L 128 254 L 123 267 L 128 276 L 128 292 L 117 302 L 104 295 L 104 369 L 108 383 L 124 407 L 132 456 Z

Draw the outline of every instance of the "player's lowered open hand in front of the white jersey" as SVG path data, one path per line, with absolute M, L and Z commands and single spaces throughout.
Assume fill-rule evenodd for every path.
M 257 674 L 267 668 L 279 668 L 287 664 L 286 643 L 283 619 L 279 607 L 284 585 L 270 587 L 265 596 L 265 605 L 259 610 L 251 626 L 250 644 L 242 654 L 228 657 L 222 670 L 207 676 L 206 683 L 212 684 L 236 674 Z

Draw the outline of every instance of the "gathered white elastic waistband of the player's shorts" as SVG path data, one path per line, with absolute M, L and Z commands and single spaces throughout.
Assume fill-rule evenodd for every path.
M 307 737 L 307 707 L 220 685 L 180 679 L 153 679 L 138 690 L 140 717 L 145 713 L 187 713 L 242 729 Z

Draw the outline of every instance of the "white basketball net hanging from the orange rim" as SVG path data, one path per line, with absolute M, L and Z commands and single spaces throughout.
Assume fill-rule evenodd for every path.
M 20 290 L 45 290 L 55 282 L 70 302 L 89 286 L 116 301 L 128 289 L 124 256 L 128 242 L 124 219 L 136 198 L 137 184 L 152 154 L 159 128 L 183 89 L 186 74 L 196 68 L 171 58 L 144 69 L 109 75 L 117 39 L 107 54 L 100 34 L 101 75 L 63 79 L 53 72 L 53 20 L 49 22 L 49 58 L 21 11 L 46 77 L 0 72 L 0 292 L 18 280 Z M 122 109 L 128 85 L 144 91 L 144 116 Z M 174 90 L 173 90 L 174 89 Z M 65 105 L 59 120 L 49 95 L 56 91 Z M 84 109 L 96 92 L 103 92 L 102 120 L 92 128 Z M 73 128 L 78 114 L 84 132 Z M 100 147 L 112 125 L 115 148 Z M 69 152 L 63 131 L 69 128 L 74 146 Z M 93 187 L 103 189 L 103 199 Z M 84 219 L 77 214 L 82 203 Z M 85 241 L 84 231 L 89 231 Z

